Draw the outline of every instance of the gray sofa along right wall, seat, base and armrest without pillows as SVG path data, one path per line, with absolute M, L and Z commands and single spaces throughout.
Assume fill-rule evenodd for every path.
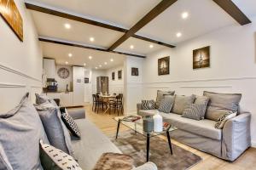
M 137 104 L 137 114 L 140 116 L 154 116 L 156 111 L 143 111 L 142 105 Z M 231 118 L 225 122 L 223 129 L 216 129 L 216 122 L 208 119 L 196 121 L 175 113 L 160 115 L 165 122 L 177 127 L 177 130 L 171 133 L 172 139 L 224 160 L 236 160 L 251 146 L 249 112 L 241 112 Z

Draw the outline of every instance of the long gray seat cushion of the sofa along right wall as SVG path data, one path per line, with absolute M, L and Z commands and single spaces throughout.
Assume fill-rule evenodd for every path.
M 153 116 L 156 114 L 157 110 L 149 110 L 149 111 L 139 111 L 140 116 Z M 207 138 L 221 140 L 222 131 L 221 129 L 216 129 L 214 127 L 215 123 L 212 120 L 201 120 L 200 122 L 182 117 L 175 113 L 162 113 L 160 115 L 163 116 L 165 122 L 169 122 L 178 129 L 182 129 L 189 133 L 195 133 Z

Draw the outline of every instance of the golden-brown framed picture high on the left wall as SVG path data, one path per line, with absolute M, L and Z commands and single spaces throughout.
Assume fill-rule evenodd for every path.
M 23 20 L 14 0 L 0 0 L 0 15 L 23 42 Z

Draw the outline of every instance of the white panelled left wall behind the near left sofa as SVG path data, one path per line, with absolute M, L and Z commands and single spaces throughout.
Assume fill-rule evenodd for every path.
M 34 101 L 35 92 L 42 91 L 43 56 L 38 42 L 38 33 L 32 16 L 23 0 L 15 0 L 23 19 L 24 41 L 15 36 L 0 17 L 0 111 L 9 111 L 30 92 Z

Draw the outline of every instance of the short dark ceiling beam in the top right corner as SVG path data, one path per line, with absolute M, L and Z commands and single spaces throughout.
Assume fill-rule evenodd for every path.
M 247 25 L 252 21 L 247 18 L 246 14 L 243 14 L 231 0 L 212 0 L 218 4 L 220 8 L 223 8 L 230 16 L 235 19 L 241 26 Z

